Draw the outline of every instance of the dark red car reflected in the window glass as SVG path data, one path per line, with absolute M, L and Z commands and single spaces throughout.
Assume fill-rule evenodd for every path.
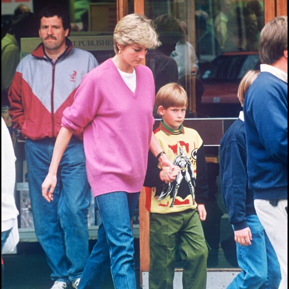
M 250 69 L 260 69 L 258 52 L 218 55 L 200 75 L 204 85 L 202 112 L 210 117 L 238 117 L 238 87 Z

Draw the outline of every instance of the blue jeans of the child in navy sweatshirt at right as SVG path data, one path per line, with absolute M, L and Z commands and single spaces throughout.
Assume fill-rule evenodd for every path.
M 237 243 L 237 260 L 242 271 L 227 289 L 278 289 L 281 281 L 277 255 L 257 215 L 247 216 L 252 245 Z

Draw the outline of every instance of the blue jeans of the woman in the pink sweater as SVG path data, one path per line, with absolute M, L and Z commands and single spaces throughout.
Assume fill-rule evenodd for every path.
M 102 223 L 78 289 L 100 289 L 109 269 L 115 288 L 136 289 L 131 219 L 139 196 L 139 192 L 112 192 L 95 198 Z

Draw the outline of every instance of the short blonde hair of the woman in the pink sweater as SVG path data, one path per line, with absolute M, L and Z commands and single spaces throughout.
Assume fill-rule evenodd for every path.
M 152 20 L 145 15 L 136 13 L 126 15 L 116 25 L 114 31 L 115 53 L 119 52 L 117 44 L 126 46 L 135 43 L 144 45 L 148 49 L 156 48 L 161 44 Z

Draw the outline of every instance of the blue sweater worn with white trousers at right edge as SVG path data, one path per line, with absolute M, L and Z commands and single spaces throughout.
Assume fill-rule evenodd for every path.
M 288 198 L 288 84 L 261 72 L 244 103 L 249 187 L 255 199 Z

